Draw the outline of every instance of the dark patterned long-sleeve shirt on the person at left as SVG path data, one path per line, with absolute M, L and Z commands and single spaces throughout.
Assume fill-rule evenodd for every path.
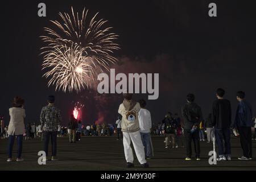
M 40 122 L 44 131 L 57 131 L 61 122 L 60 110 L 53 104 L 43 107 Z

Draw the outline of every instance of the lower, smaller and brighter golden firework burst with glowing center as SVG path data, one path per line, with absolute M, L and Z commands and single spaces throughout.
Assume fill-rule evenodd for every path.
M 82 56 L 79 46 L 57 46 L 44 55 L 43 69 L 47 72 L 43 76 L 51 77 L 48 86 L 56 85 L 56 90 L 79 91 L 90 86 L 94 72 L 89 61 L 90 57 Z

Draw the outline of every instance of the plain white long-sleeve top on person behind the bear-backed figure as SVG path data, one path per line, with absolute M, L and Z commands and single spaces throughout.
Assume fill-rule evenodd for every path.
M 139 128 L 142 133 L 150 133 L 152 127 L 150 111 L 144 108 L 139 110 Z

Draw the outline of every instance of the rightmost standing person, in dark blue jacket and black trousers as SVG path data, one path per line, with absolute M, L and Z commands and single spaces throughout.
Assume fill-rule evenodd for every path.
M 240 142 L 243 150 L 243 156 L 239 160 L 251 160 L 253 158 L 253 147 L 251 142 L 251 127 L 254 126 L 251 118 L 253 118 L 251 105 L 245 100 L 245 92 L 237 92 L 237 106 L 236 118 L 233 127 L 238 129 L 240 134 Z

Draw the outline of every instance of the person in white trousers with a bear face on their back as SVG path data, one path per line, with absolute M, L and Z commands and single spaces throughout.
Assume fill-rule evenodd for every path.
M 125 158 L 127 167 L 134 167 L 133 150 L 131 148 L 131 142 L 133 143 L 134 150 L 139 163 L 142 167 L 149 167 L 145 159 L 144 146 L 141 139 L 141 133 L 139 132 L 139 120 L 138 113 L 141 109 L 138 102 L 132 100 L 133 94 L 124 93 L 123 103 L 119 106 L 118 113 L 122 115 L 122 132 L 123 132 L 123 148 L 125 151 Z

